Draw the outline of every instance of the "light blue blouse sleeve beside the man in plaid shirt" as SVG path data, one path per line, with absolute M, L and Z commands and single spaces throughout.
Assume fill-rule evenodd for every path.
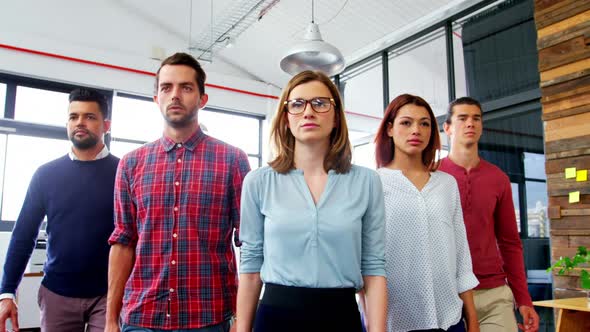
M 260 205 L 260 173 L 250 172 L 242 186 L 240 207 L 240 273 L 257 273 L 264 262 L 264 215 Z

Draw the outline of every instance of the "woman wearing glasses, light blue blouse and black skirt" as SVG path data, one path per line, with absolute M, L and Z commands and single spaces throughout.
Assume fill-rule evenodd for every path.
M 385 331 L 383 191 L 376 172 L 351 164 L 334 83 L 294 76 L 271 135 L 275 159 L 242 189 L 237 330 L 362 331 L 364 287 L 370 331 Z

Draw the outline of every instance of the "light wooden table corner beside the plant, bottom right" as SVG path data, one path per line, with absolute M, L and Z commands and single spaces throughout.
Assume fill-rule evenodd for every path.
M 557 332 L 590 331 L 590 305 L 585 297 L 533 302 L 538 307 L 558 309 Z

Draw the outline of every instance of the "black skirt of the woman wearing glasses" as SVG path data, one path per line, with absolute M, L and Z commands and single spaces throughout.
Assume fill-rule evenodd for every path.
M 354 288 L 265 284 L 254 332 L 362 332 Z

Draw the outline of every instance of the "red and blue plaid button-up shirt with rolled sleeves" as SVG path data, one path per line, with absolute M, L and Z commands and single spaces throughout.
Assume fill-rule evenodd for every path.
M 129 325 L 191 329 L 235 312 L 242 181 L 241 150 L 198 130 L 167 137 L 121 159 L 110 244 L 135 248 L 122 318 Z M 234 233 L 235 234 L 232 234 Z

